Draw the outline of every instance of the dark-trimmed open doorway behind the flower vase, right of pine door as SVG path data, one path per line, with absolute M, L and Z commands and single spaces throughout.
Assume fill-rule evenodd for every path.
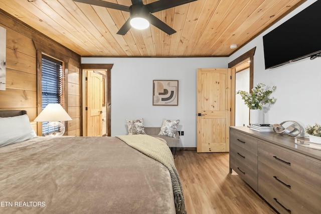
M 236 58 L 228 64 L 234 75 L 234 87 L 232 87 L 232 112 L 231 125 L 247 126 L 249 125 L 249 108 L 244 104 L 241 96 L 236 92 L 239 90 L 250 91 L 253 88 L 253 73 L 254 73 L 254 53 L 255 48 L 249 50 L 245 54 Z M 232 79 L 233 79 L 232 78 Z

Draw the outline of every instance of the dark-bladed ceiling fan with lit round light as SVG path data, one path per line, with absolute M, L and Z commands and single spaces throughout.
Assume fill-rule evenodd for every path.
M 153 16 L 152 13 L 163 11 L 169 8 L 174 8 L 176 6 L 184 5 L 197 0 L 159 0 L 153 3 L 149 3 L 147 5 L 144 5 L 142 3 L 142 0 L 131 0 L 132 5 L 130 7 L 118 5 L 115 3 L 109 3 L 102 0 L 73 1 L 129 12 L 129 19 L 117 32 L 117 34 L 119 35 L 125 35 L 131 27 L 137 29 L 145 29 L 149 26 L 149 23 L 155 26 L 156 28 L 164 31 L 168 35 L 172 35 L 176 33 L 176 31 L 167 24 L 165 24 L 163 21 L 159 20 L 157 17 Z

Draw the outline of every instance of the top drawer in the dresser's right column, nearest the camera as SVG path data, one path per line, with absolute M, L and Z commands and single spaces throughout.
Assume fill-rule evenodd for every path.
M 320 161 L 264 141 L 258 141 L 258 156 L 260 161 L 268 163 L 275 170 L 295 177 L 298 182 L 318 184 L 317 188 L 321 191 Z

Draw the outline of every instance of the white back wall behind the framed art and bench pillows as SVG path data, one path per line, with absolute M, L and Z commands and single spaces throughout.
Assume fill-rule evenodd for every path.
M 83 64 L 111 69 L 111 135 L 127 134 L 126 119 L 160 127 L 163 118 L 180 119 L 181 146 L 196 147 L 196 70 L 227 68 L 227 58 L 82 58 Z M 152 80 L 179 80 L 178 106 L 152 105 Z

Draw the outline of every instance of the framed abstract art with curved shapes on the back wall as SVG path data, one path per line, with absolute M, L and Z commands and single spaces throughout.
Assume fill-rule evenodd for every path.
M 179 81 L 178 80 L 153 80 L 152 81 L 153 106 L 178 106 Z

